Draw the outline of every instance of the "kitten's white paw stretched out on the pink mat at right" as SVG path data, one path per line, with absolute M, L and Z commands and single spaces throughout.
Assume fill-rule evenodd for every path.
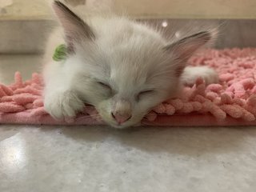
M 198 78 L 202 78 L 206 85 L 218 83 L 218 74 L 207 66 L 187 66 L 182 73 L 182 83 L 193 86 Z

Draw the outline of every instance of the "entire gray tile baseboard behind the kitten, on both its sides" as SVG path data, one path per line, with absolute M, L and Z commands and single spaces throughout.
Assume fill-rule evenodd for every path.
M 214 47 L 221 49 L 256 46 L 254 38 L 256 20 L 144 19 L 142 21 L 162 28 L 166 37 L 173 37 L 173 40 L 219 26 L 220 33 Z M 167 22 L 168 26 L 162 27 L 162 22 Z M 42 53 L 47 36 L 54 26 L 54 22 L 49 20 L 2 21 L 0 22 L 0 53 Z

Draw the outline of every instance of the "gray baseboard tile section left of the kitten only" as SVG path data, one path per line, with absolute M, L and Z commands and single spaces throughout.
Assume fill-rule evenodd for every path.
M 37 54 L 54 27 L 48 20 L 0 21 L 0 54 Z

